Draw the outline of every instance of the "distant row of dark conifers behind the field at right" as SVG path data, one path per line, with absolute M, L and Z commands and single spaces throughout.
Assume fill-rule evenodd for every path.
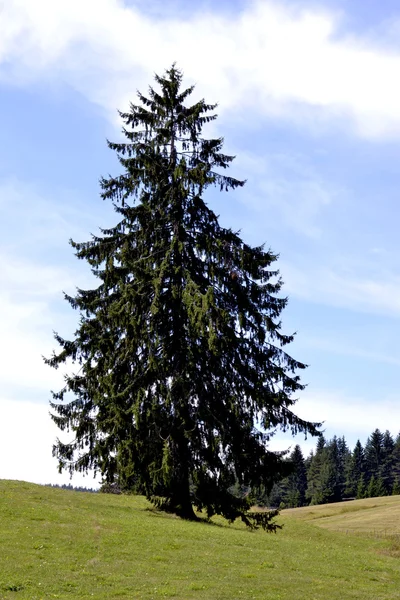
M 297 445 L 287 460 L 291 475 L 256 498 L 259 504 L 296 508 L 400 494 L 400 434 L 394 439 L 375 429 L 365 446 L 358 440 L 353 451 L 344 437 L 321 436 L 308 458 Z

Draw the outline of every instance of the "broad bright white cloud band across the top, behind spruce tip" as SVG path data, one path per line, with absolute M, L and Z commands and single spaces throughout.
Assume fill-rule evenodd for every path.
M 62 80 L 115 115 L 177 60 L 222 113 L 310 128 L 344 116 L 360 135 L 398 136 L 399 51 L 338 37 L 339 25 L 323 9 L 261 0 L 231 15 L 168 19 L 118 0 L 13 0 L 0 19 L 0 77 Z

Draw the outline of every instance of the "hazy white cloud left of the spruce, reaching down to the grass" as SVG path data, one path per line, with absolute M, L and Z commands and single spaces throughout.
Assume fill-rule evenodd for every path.
M 89 217 L 70 203 L 57 206 L 18 181 L 0 182 L 0 208 L 0 478 L 68 483 L 69 476 L 57 474 L 51 456 L 60 432 L 49 417 L 47 400 L 50 389 L 63 386 L 63 373 L 71 365 L 55 371 L 42 355 L 56 348 L 53 329 L 68 336 L 77 324 L 78 315 L 62 290 L 85 287 L 91 275 L 77 268 L 67 240 L 71 233 L 83 233 Z M 91 477 L 80 475 L 72 483 L 95 487 Z

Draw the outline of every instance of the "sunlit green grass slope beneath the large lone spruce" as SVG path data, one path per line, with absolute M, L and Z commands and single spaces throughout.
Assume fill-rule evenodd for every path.
M 326 513 L 301 510 L 269 535 L 184 522 L 139 497 L 0 481 L 0 598 L 399 598 L 392 539 L 328 530 Z

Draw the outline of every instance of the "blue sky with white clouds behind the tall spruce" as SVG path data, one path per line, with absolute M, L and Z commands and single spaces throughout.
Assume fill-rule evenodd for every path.
M 394 0 L 0 0 L 0 478 L 69 482 L 51 456 L 62 371 L 42 356 L 78 323 L 63 291 L 95 282 L 68 240 L 116 222 L 106 139 L 175 61 L 247 180 L 205 199 L 279 254 L 283 331 L 309 365 L 297 414 L 351 448 L 399 432 L 399 32 Z M 271 448 L 295 443 L 315 439 Z

